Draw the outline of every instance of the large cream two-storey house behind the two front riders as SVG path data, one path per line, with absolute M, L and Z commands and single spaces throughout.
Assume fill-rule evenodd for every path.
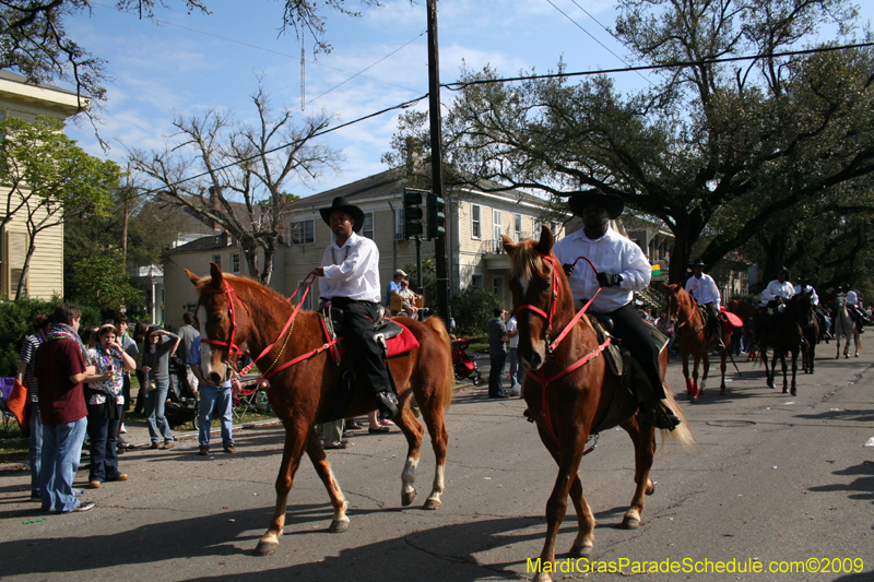
M 406 179 L 387 170 L 291 203 L 284 211 L 282 245 L 276 249 L 270 286 L 290 296 L 307 274 L 321 263 L 332 233 L 319 214 L 335 197 L 345 197 L 365 213 L 362 235 L 379 248 L 379 275 L 382 286 L 395 269 L 416 262 L 416 242 L 403 236 L 403 191 Z M 446 247 L 450 294 L 470 286 L 488 289 L 506 306 L 509 259 L 500 246 L 500 235 L 513 240 L 540 236 L 540 225 L 550 215 L 546 201 L 523 192 L 486 193 L 477 189 L 448 189 L 446 193 Z M 567 216 L 569 217 L 569 216 Z M 552 223 L 557 237 L 564 235 L 562 222 Z M 434 241 L 422 241 L 422 258 L 434 257 Z M 179 320 L 193 308 L 197 297 L 182 268 L 198 274 L 209 272 L 215 259 L 222 269 L 248 275 L 247 265 L 233 237 L 214 234 L 167 251 L 163 276 L 167 321 Z M 415 285 L 414 281 L 411 284 Z M 318 305 L 318 284 L 305 299 L 305 309 Z

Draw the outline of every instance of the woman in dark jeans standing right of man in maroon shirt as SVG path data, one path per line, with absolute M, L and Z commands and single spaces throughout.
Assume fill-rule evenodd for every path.
M 97 345 L 87 352 L 95 372 L 86 380 L 85 388 L 91 446 L 88 486 L 92 489 L 99 489 L 108 480 L 128 479 L 118 470 L 118 427 L 125 403 L 125 372 L 137 367 L 111 323 L 101 326 L 97 337 Z

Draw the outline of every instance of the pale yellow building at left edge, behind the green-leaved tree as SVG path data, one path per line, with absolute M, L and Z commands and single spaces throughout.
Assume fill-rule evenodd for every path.
M 25 78 L 0 71 L 0 119 L 34 121 L 43 115 L 64 120 L 80 110 L 75 93 L 50 85 L 31 85 Z M 0 188 L 3 188 L 0 185 Z M 2 193 L 5 194 L 7 189 Z M 5 200 L 5 195 L 2 200 Z M 15 206 L 12 200 L 10 206 Z M 8 212 L 5 203 L 0 213 Z M 0 299 L 14 299 L 27 252 L 26 214 L 16 213 L 0 233 Z M 25 278 L 26 295 L 50 299 L 63 295 L 63 226 L 47 228 L 36 237 L 36 250 Z

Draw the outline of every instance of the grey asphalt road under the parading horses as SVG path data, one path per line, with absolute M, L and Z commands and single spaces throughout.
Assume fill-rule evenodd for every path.
M 866 336 L 863 336 L 866 337 Z M 618 528 L 634 492 L 633 447 L 621 430 L 602 435 L 581 465 L 594 512 L 597 560 L 705 560 L 748 563 L 749 573 L 646 573 L 636 580 L 874 580 L 874 357 L 828 359 L 799 375 L 799 394 L 765 387 L 764 371 L 739 363 L 729 395 L 710 382 L 699 404 L 681 399 L 695 450 L 660 447 L 639 530 Z M 482 361 L 481 361 L 482 364 Z M 671 361 L 669 383 L 683 387 Z M 277 427 L 238 430 L 238 453 L 194 454 L 182 440 L 173 451 L 125 454 L 125 483 L 86 490 L 97 507 L 45 515 L 27 500 L 28 476 L 0 467 L 0 577 L 4 580 L 528 580 L 545 532 L 544 508 L 556 467 L 521 400 L 489 401 L 485 382 L 463 385 L 448 415 L 447 491 L 442 508 L 421 509 L 434 471 L 423 447 L 418 498 L 400 506 L 405 442 L 353 432 L 353 447 L 331 451 L 351 503 L 351 528 L 330 534 L 328 496 L 305 460 L 292 491 L 279 551 L 256 557 L 267 528 L 280 462 Z M 215 438 L 215 437 L 214 437 Z M 85 471 L 78 483 L 84 486 Z M 46 518 L 45 521 L 25 523 Z M 567 551 L 576 533 L 572 509 L 560 531 Z M 559 559 L 566 556 L 558 556 Z M 862 573 L 768 573 L 771 561 L 863 560 Z M 669 562 L 670 563 L 670 562 Z M 859 561 L 857 561 L 859 565 Z M 851 566 L 850 561 L 841 565 Z M 711 566 L 712 568 L 713 566 Z M 779 566 L 777 566 L 779 568 Z M 633 574 L 630 565 L 623 567 Z M 589 578 L 617 574 L 589 574 Z M 584 572 L 556 580 L 587 578 Z

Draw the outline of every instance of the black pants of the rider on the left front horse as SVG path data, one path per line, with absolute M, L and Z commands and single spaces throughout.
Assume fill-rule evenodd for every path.
M 379 306 L 373 301 L 356 301 L 345 297 L 332 297 L 331 305 L 343 310 L 343 336 L 351 352 L 356 378 L 369 383 L 374 392 L 390 391 L 382 351 L 374 341 L 374 321 L 379 316 Z

